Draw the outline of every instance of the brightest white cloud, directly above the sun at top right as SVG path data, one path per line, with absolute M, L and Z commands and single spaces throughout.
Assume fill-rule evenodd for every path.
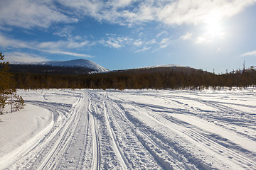
M 196 25 L 206 23 L 212 13 L 218 13 L 219 19 L 227 18 L 252 4 L 255 4 L 254 0 L 179 0 L 159 7 L 157 19 L 169 25 Z

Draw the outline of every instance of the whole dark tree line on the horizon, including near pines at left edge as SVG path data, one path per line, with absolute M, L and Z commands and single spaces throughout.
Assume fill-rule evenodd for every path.
M 16 89 L 220 89 L 256 85 L 255 69 L 213 74 L 186 67 L 130 69 L 100 74 L 83 74 L 90 69 L 12 65 L 0 52 L 0 114 L 6 105 L 19 111 L 25 103 Z M 72 69 L 72 72 L 68 70 Z M 78 69 L 78 70 L 77 70 Z M 25 70 L 25 71 L 24 71 Z M 33 70 L 33 72 L 31 72 Z M 38 70 L 37 72 L 35 70 Z M 45 72 L 50 70 L 50 72 Z M 64 72 L 64 71 L 65 72 Z M 11 72 L 10 72 L 11 71 Z

